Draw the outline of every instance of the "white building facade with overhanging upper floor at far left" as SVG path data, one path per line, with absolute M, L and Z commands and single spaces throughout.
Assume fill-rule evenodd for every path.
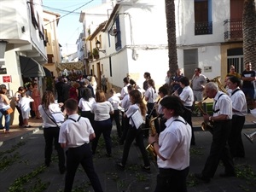
M 43 25 L 43 9 L 41 0 L 34 0 L 34 13 L 40 27 Z M 38 29 L 32 26 L 30 3 L 26 0 L 2 0 L 0 3 L 0 40 L 7 41 L 4 61 L 7 75 L 11 75 L 12 83 L 6 84 L 13 93 L 23 81 L 20 73 L 19 55 L 32 57 L 36 61 L 45 63 L 47 61 L 44 41 L 39 38 Z M 25 29 L 22 32 L 22 28 Z M 43 31 L 43 30 L 42 30 Z M 3 75 L 0 75 L 0 84 L 3 83 Z M 39 90 L 42 90 L 42 82 L 38 81 Z M 11 124 L 17 124 L 18 113 L 12 114 Z

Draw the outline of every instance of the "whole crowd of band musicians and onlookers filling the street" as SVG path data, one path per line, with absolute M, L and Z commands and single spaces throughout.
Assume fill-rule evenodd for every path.
M 105 141 L 106 156 L 112 157 L 113 121 L 119 144 L 123 145 L 122 159 L 116 163 L 119 169 L 124 170 L 129 163 L 131 144 L 135 142 L 143 157 L 141 168 L 150 172 L 150 161 L 144 145 L 144 138 L 148 138 L 159 166 L 154 191 L 168 191 L 170 188 L 173 191 L 187 191 L 189 148 L 195 145 L 192 114 L 195 102 L 203 102 L 206 97 L 213 99 L 212 113 L 201 115 L 203 121 L 211 126 L 212 144 L 206 164 L 201 173 L 195 174 L 195 178 L 209 183 L 220 160 L 224 164 L 224 173 L 220 176 L 236 176 L 233 160 L 246 155 L 241 129 L 247 114 L 247 97 L 253 101 L 255 99 L 252 84 L 256 77 L 251 63 L 246 64 L 241 75 L 231 66 L 224 89 L 218 82 L 212 82 L 201 74 L 200 67 L 195 68 L 191 81 L 180 68 L 173 77 L 168 72 L 158 90 L 150 73 L 144 73 L 144 79 L 143 88 L 140 88 L 127 75 L 123 79 L 124 86 L 117 93 L 113 88 L 108 90 L 104 76 L 102 87 L 97 85 L 94 76 L 84 76 L 73 82 L 60 77 L 55 84 L 56 103 L 55 94 L 49 90 L 44 92 L 41 100 L 38 84 L 29 84 L 27 89 L 20 87 L 15 93 L 20 126 L 30 126 L 27 120 L 29 113 L 32 118 L 43 119 L 44 163 L 49 166 L 54 143 L 59 170 L 61 174 L 66 172 L 65 191 L 72 190 L 79 164 L 83 166 L 93 189 L 102 191 L 92 157 L 98 153 L 97 144 L 101 135 Z M 107 90 L 109 98 L 106 97 Z M 0 114 L 4 114 L 4 128 L 9 131 L 9 114 L 4 113 L 9 108 L 9 99 L 5 94 L 6 87 L 1 85 Z M 64 149 L 67 150 L 67 160 Z

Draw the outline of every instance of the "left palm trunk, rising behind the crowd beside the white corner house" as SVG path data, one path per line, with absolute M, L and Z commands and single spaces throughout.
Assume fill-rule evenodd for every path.
M 174 0 L 166 0 L 166 26 L 168 38 L 169 70 L 172 76 L 177 71 L 177 46 L 175 26 L 175 4 Z

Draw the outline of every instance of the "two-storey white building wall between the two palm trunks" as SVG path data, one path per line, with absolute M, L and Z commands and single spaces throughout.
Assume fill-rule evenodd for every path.
M 202 68 L 202 73 L 209 79 L 220 76 L 220 47 L 224 43 L 224 20 L 230 18 L 230 0 L 212 0 L 212 34 L 207 35 L 195 35 L 194 1 L 176 0 L 175 6 L 179 67 L 184 67 L 183 49 L 198 49 L 198 67 Z M 205 67 L 212 67 L 212 70 L 205 70 Z

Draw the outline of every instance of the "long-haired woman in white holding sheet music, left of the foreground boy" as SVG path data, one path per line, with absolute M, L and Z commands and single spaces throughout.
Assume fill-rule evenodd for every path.
M 52 113 L 61 113 L 62 106 L 63 103 L 55 103 L 55 96 L 53 92 L 46 90 L 42 97 L 42 104 L 38 107 L 38 111 L 43 119 L 44 127 L 44 164 L 45 166 L 49 166 L 51 162 L 52 144 L 54 142 L 55 150 L 58 153 L 59 171 L 61 174 L 66 171 L 64 150 L 61 148 L 61 144 L 59 143 L 61 123 L 56 122 Z

